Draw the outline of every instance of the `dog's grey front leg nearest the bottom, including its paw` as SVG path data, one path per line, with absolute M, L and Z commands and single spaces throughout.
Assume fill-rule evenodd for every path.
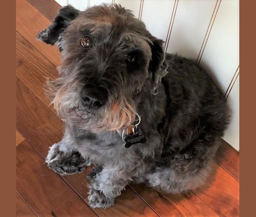
M 115 198 L 125 189 L 131 177 L 125 171 L 94 169 L 88 178 L 91 180 L 88 196 L 90 206 L 106 209 L 114 204 Z

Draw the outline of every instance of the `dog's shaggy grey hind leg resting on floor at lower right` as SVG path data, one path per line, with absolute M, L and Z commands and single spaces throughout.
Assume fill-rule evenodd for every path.
M 189 145 L 189 152 L 165 153 L 164 163 L 146 174 L 148 184 L 171 194 L 186 193 L 203 185 L 211 171 L 220 138 L 210 139 L 208 133 L 209 136 L 201 135 Z

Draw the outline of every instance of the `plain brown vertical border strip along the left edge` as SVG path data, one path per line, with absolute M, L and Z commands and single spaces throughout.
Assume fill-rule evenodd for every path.
M 15 125 L 15 29 L 12 25 L 15 22 L 14 1 L 3 1 L 1 4 L 1 216 L 15 216 L 15 155 L 14 129 Z M 11 15 L 13 13 L 13 15 Z M 14 54 L 13 54 L 14 53 Z M 12 143 L 13 141 L 13 143 Z M 14 207 L 13 207 L 14 206 Z

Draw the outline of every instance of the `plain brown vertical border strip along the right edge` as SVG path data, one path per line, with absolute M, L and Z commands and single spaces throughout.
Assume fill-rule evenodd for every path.
M 240 215 L 255 212 L 256 2 L 240 1 Z

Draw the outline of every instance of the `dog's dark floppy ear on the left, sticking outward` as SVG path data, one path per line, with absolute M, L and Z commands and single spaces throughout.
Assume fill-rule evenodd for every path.
M 36 38 L 51 45 L 57 42 L 57 47 L 61 50 L 61 35 L 70 22 L 79 15 L 79 12 L 71 5 L 61 8 L 51 24 L 45 30 L 38 32 Z

